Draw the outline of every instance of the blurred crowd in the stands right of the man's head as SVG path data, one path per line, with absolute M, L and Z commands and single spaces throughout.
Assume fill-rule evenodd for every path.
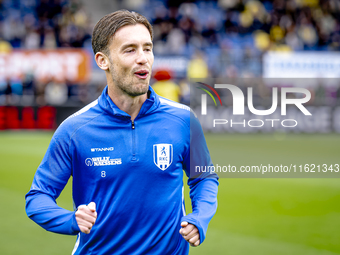
M 143 1 L 139 1 L 143 2 Z M 340 49 L 338 0 L 151 1 L 156 54 L 199 49 L 210 75 L 261 76 L 266 51 Z

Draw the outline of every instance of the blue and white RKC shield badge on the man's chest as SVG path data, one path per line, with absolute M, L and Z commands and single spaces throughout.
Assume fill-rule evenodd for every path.
M 172 144 L 160 143 L 153 145 L 153 162 L 162 171 L 166 170 L 172 163 Z

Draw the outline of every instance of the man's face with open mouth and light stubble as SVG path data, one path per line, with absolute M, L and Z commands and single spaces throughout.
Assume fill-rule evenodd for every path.
M 142 25 L 121 27 L 109 46 L 114 89 L 136 97 L 148 92 L 154 56 L 148 29 Z

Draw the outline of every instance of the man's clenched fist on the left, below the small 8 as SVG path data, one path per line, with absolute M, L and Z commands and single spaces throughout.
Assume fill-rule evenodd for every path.
M 81 232 L 89 234 L 97 219 L 96 204 L 81 205 L 76 211 L 76 220 Z

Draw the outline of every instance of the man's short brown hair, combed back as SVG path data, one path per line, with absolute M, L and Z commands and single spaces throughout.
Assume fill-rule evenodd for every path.
M 144 25 L 150 32 L 151 40 L 153 37 L 152 26 L 149 21 L 137 12 L 119 10 L 105 15 L 95 25 L 92 33 L 92 49 L 94 54 L 101 51 L 109 55 L 108 45 L 117 30 L 127 25 Z

